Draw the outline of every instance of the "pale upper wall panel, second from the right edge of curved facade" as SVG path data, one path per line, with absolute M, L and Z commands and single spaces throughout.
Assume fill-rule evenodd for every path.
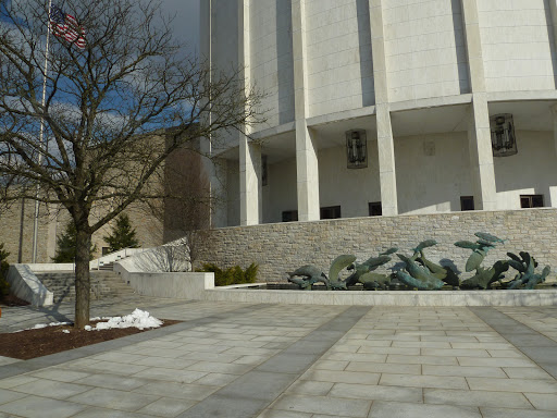
M 383 0 L 391 101 L 469 93 L 460 0 Z

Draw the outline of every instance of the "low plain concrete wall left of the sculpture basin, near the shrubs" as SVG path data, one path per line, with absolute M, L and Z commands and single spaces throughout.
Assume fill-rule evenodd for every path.
M 127 274 L 127 283 L 145 296 L 203 299 L 206 290 L 214 288 L 214 274 L 134 272 Z

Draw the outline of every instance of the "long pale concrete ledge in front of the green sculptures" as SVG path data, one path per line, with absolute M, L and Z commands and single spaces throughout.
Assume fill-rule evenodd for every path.
M 333 292 L 213 288 L 206 300 L 252 304 L 364 305 L 364 306 L 552 306 L 557 290 L 547 291 L 438 291 Z

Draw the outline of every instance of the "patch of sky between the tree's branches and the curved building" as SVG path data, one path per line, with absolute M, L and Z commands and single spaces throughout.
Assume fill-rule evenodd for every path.
M 176 37 L 186 41 L 196 52 L 199 52 L 199 1 L 161 0 L 164 13 L 174 17 Z

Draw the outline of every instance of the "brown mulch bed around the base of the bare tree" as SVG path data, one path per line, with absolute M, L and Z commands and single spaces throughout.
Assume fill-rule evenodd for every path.
M 164 322 L 162 327 L 181 322 L 170 319 L 162 319 L 162 321 Z M 92 323 L 97 322 L 91 322 L 91 324 Z M 63 330 L 67 330 L 70 333 L 64 333 Z M 29 358 L 61 353 L 66 349 L 84 347 L 86 345 L 120 339 L 122 336 L 137 334 L 144 331 L 149 330 L 125 328 L 85 331 L 77 330 L 73 328 L 73 325 L 55 325 L 40 328 L 38 330 L 0 334 L 0 356 L 28 360 Z

